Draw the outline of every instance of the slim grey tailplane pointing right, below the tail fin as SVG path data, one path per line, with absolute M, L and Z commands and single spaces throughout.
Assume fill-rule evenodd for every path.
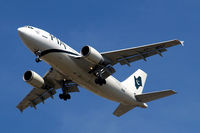
M 139 94 L 136 95 L 136 99 L 139 102 L 150 102 L 159 98 L 167 97 L 170 95 L 176 94 L 175 91 L 173 90 L 166 90 L 166 91 L 159 91 L 159 92 L 151 92 L 151 93 L 144 93 L 144 94 Z

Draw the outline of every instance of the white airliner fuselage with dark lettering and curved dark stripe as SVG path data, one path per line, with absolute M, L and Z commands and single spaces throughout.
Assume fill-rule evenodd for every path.
M 96 84 L 94 82 L 96 77 L 86 70 L 90 66 L 75 58 L 81 55 L 48 32 L 30 26 L 21 27 L 18 32 L 22 41 L 33 53 L 38 50 L 47 51 L 41 59 L 65 75 L 66 78 L 112 101 L 138 106 L 142 104 L 135 100 L 133 90 L 127 89 L 113 76 L 106 78 L 106 84 L 102 86 Z

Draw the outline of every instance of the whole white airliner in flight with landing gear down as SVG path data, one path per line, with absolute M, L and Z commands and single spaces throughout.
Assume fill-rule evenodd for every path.
M 153 55 L 160 55 L 166 48 L 183 44 L 179 40 L 171 40 L 140 47 L 121 49 L 99 53 L 91 46 L 84 46 L 78 53 L 52 34 L 32 26 L 18 28 L 18 34 L 24 44 L 36 55 L 36 62 L 45 61 L 51 68 L 41 77 L 29 70 L 23 79 L 33 89 L 17 105 L 20 111 L 34 107 L 53 98 L 56 90 L 61 88 L 60 99 L 70 99 L 70 93 L 79 92 L 78 86 L 106 99 L 119 103 L 114 111 L 121 116 L 135 107 L 147 108 L 146 102 L 166 97 L 176 92 L 165 90 L 142 93 L 147 74 L 138 69 L 123 82 L 112 76 L 113 66 L 117 63 L 130 65 L 137 60 L 145 60 Z

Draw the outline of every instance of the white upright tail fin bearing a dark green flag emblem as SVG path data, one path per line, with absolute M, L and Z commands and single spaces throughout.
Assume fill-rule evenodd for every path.
M 130 77 L 122 82 L 127 89 L 133 89 L 135 94 L 141 94 L 144 88 L 144 84 L 147 78 L 147 74 L 138 69 L 135 73 L 133 73 Z

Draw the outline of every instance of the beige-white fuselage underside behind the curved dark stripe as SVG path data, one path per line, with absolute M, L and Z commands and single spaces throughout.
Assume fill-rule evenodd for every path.
M 43 60 L 66 75 L 73 82 L 101 97 L 126 104 L 132 101 L 132 98 L 130 99 L 130 97 L 127 97 L 127 94 L 123 92 L 121 83 L 113 76 L 109 76 L 106 79 L 105 85 L 97 85 L 94 82 L 96 78 L 94 75 L 83 70 L 70 56 L 64 53 L 51 53 L 44 56 Z

